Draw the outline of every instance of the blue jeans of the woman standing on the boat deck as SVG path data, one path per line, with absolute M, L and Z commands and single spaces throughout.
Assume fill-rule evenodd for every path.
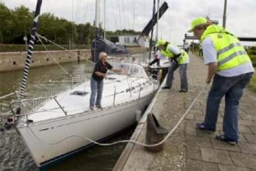
M 102 92 L 103 92 L 103 80 L 102 81 L 97 81 L 91 78 L 91 96 L 90 96 L 90 108 L 94 107 L 94 104 L 96 106 L 100 106 L 101 101 L 102 101 Z M 97 94 L 96 98 L 96 103 L 95 103 L 95 97 Z

